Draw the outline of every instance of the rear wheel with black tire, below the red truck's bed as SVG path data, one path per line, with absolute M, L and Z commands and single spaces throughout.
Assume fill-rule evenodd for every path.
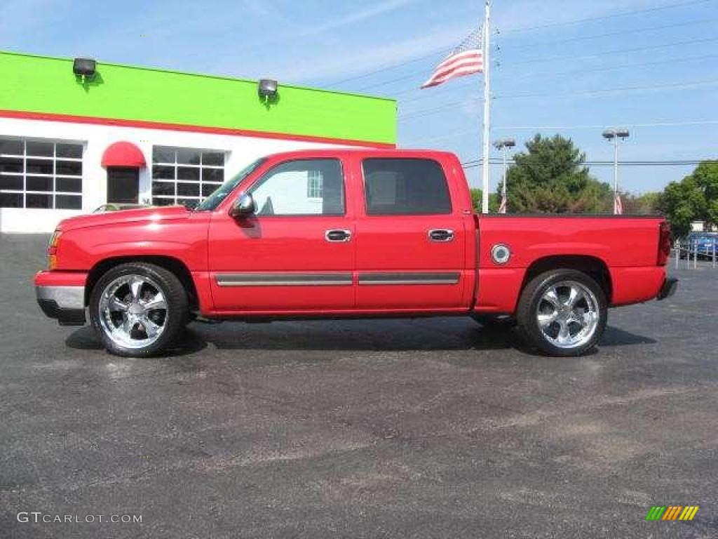
M 523 338 L 551 356 L 582 356 L 600 340 L 608 315 L 605 293 L 589 275 L 552 270 L 521 292 L 516 318 Z

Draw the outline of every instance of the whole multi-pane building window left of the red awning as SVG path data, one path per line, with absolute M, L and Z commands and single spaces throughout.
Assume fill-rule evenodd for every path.
M 83 145 L 0 137 L 0 208 L 80 210 Z

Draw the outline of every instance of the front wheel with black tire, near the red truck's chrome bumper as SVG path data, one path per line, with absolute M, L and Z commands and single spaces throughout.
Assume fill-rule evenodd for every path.
M 174 273 L 144 262 L 108 270 L 90 295 L 90 323 L 118 356 L 159 354 L 187 325 L 187 292 Z

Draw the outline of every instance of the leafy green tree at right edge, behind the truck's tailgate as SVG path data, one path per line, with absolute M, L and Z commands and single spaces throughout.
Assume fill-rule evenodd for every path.
M 688 234 L 693 221 L 703 221 L 707 229 L 718 224 L 718 162 L 701 162 L 680 182 L 669 183 L 658 209 L 671 222 L 674 237 Z

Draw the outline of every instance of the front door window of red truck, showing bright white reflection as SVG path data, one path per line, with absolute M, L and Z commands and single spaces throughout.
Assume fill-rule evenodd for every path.
M 259 216 L 344 215 L 344 177 L 335 159 L 281 163 L 252 185 Z

